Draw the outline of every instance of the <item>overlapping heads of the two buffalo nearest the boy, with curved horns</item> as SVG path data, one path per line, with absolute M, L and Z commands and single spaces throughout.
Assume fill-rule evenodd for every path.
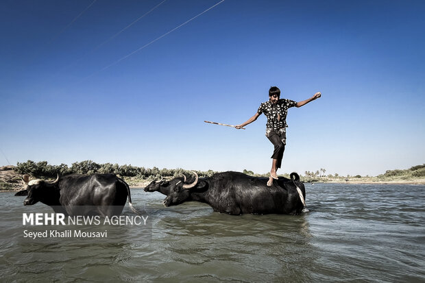
M 186 184 L 186 176 L 184 176 L 184 179 L 178 177 L 169 181 L 153 181 L 145 187 L 145 192 L 158 191 L 163 195 L 167 195 L 167 197 L 162 202 L 165 206 L 175 206 L 182 204 L 182 202 L 186 201 L 186 199 L 188 199 L 191 195 L 189 189 L 196 186 L 199 180 L 197 173 L 193 172 L 193 174 L 195 175 L 195 181 L 191 184 Z

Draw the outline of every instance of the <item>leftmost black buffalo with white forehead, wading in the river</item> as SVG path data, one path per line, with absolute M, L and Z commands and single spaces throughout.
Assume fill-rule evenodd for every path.
M 125 202 L 132 207 L 130 187 L 114 174 L 66 175 L 54 182 L 32 180 L 16 195 L 27 195 L 24 206 L 38 201 L 55 212 L 69 215 L 100 215 L 111 217 L 123 211 Z

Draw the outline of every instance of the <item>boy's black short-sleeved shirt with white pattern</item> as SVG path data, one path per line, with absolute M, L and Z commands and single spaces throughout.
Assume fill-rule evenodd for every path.
M 267 117 L 267 129 L 280 130 L 287 125 L 288 109 L 297 105 L 297 101 L 289 99 L 279 99 L 278 103 L 273 104 L 270 101 L 261 103 L 257 113 L 264 113 Z M 279 119 L 278 119 L 279 118 Z

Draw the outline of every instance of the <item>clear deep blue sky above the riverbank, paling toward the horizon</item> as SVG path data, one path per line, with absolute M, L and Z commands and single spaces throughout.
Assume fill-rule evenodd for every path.
M 204 120 L 243 123 L 275 85 L 322 93 L 289 110 L 279 173 L 425 162 L 425 1 L 226 0 L 169 34 L 219 0 L 161 2 L 2 1 L 0 165 L 266 173 L 264 115 Z

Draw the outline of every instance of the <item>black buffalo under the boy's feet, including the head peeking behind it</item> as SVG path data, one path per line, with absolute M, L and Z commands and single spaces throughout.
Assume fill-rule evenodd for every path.
M 300 214 L 306 195 L 304 184 L 297 173 L 291 173 L 291 179 L 279 177 L 273 186 L 267 186 L 267 178 L 239 172 L 215 173 L 204 178 L 198 178 L 195 173 L 195 181 L 191 184 L 186 183 L 186 177 L 177 177 L 151 182 L 145 191 L 167 195 L 165 206 L 200 201 L 216 212 L 228 214 Z

